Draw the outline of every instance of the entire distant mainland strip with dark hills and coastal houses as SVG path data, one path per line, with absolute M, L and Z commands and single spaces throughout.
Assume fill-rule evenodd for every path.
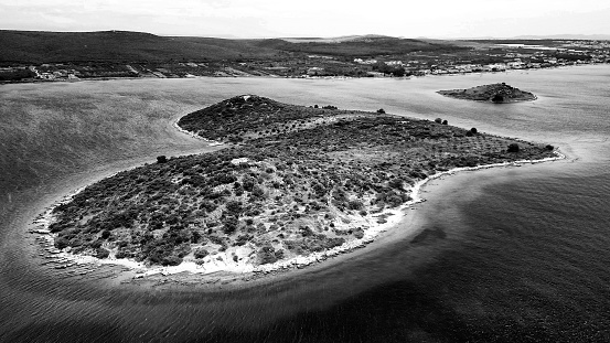
M 217 39 L 0 30 L 0 84 L 176 77 L 410 77 L 610 61 L 595 40 Z

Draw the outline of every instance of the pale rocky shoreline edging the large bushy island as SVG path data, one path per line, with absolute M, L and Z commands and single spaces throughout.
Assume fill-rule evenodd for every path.
M 178 126 L 178 120 L 172 122 L 172 126 L 176 128 L 179 131 L 186 133 L 191 136 L 192 138 L 197 138 L 201 140 L 204 140 L 210 143 L 211 147 L 213 144 L 223 144 L 221 142 L 210 141 L 205 138 L 202 138 L 201 136 L 197 136 L 195 133 L 189 132 L 186 130 L 181 129 Z M 411 200 L 406 202 L 405 204 L 400 205 L 399 207 L 395 208 L 388 208 L 381 213 L 375 213 L 373 215 L 368 215 L 365 219 L 377 219 L 377 218 L 384 218 L 386 222 L 383 224 L 376 223 L 376 225 L 371 225 L 367 229 L 364 231 L 364 236 L 362 238 L 353 239 L 350 242 L 344 243 L 341 246 L 331 248 L 321 253 L 313 253 L 307 256 L 296 256 L 290 259 L 279 260 L 274 264 L 267 264 L 267 265 L 258 265 L 254 266 L 249 262 L 233 262 L 229 256 L 224 256 L 222 262 L 218 262 L 216 260 L 217 255 L 214 255 L 214 259 L 206 258 L 205 266 L 196 265 L 193 261 L 184 261 L 178 266 L 172 267 L 162 267 L 162 266 L 146 266 L 142 262 L 135 261 L 132 259 L 116 259 L 116 258 L 106 258 L 106 259 L 98 259 L 93 256 L 86 256 L 86 255 L 74 255 L 69 253 L 69 249 L 58 250 L 54 247 L 54 235 L 49 231 L 49 226 L 53 223 L 54 215 L 52 214 L 53 210 L 66 202 L 69 202 L 76 194 L 78 194 L 81 191 L 83 191 L 86 186 L 89 184 L 82 186 L 77 190 L 74 190 L 69 192 L 68 194 L 64 195 L 60 201 L 56 201 L 51 206 L 46 207 L 46 211 L 42 214 L 39 214 L 36 218 L 33 221 L 32 224 L 35 225 L 34 228 L 32 228 L 30 232 L 34 234 L 39 234 L 42 236 L 40 239 L 44 239 L 45 244 L 47 244 L 47 247 L 45 250 L 51 255 L 56 257 L 60 260 L 65 261 L 65 265 L 61 265 L 58 267 L 55 267 L 56 269 L 63 269 L 73 266 L 74 264 L 82 265 L 95 265 L 95 266 L 103 266 L 103 265 L 110 265 L 110 266 L 117 266 L 117 267 L 125 267 L 127 270 L 124 269 L 124 271 L 132 272 L 133 275 L 129 278 L 131 280 L 135 279 L 143 279 L 146 277 L 161 275 L 161 276 L 169 276 L 169 275 L 178 275 L 186 272 L 189 275 L 199 275 L 199 276 L 214 276 L 218 277 L 217 274 L 226 274 L 228 275 L 229 279 L 242 279 L 244 281 L 252 281 L 253 279 L 259 279 L 264 277 L 265 279 L 268 278 L 269 275 L 275 275 L 277 272 L 283 272 L 295 269 L 302 269 L 308 266 L 320 264 L 329 258 L 336 258 L 338 256 L 351 253 L 355 249 L 363 248 L 367 246 L 368 244 L 376 240 L 376 238 L 384 232 L 387 232 L 392 228 L 395 228 L 395 226 L 405 219 L 406 214 L 404 212 L 408 208 L 413 208 L 414 205 L 425 202 L 426 200 L 421 197 L 421 187 L 426 185 L 428 182 L 437 180 L 445 175 L 452 175 L 458 172 L 462 171 L 477 171 L 482 169 L 491 169 L 491 168 L 499 168 L 499 167 L 521 167 L 522 163 L 524 164 L 536 164 L 536 163 L 543 163 L 543 162 L 550 162 L 550 161 L 557 161 L 557 160 L 564 160 L 566 159 L 566 156 L 563 154 L 559 150 L 554 151 L 555 157 L 553 158 L 545 158 L 541 160 L 520 160 L 514 162 L 502 162 L 502 163 L 493 163 L 493 164 L 485 164 L 485 165 L 478 165 L 478 167 L 464 167 L 464 168 L 456 168 L 448 171 L 439 172 L 434 175 L 429 175 L 428 178 L 420 180 L 416 182 L 411 189 L 410 189 L 410 197 Z M 135 168 L 138 168 L 135 167 Z M 120 172 L 120 171 L 119 171 Z M 118 172 L 116 172 L 118 173 Z M 111 178 L 114 174 L 107 175 L 103 179 Z M 99 181 L 99 180 L 98 180 Z M 95 182 L 98 182 L 95 181 Z M 94 183 L 95 183 L 94 182 Z M 415 210 L 415 208 L 413 208 Z M 368 222 L 368 221 L 367 221 Z M 36 238 L 39 239 L 39 238 Z M 43 245 L 43 244 L 41 244 Z M 222 255 L 222 254 L 220 254 Z M 225 275 L 225 277 L 226 277 Z M 252 276 L 252 278 L 250 278 Z M 203 281 L 204 279 L 201 279 Z M 221 280 L 221 279 L 218 279 Z M 216 280 L 216 281 L 218 281 Z M 210 283 L 210 282 L 208 282 Z M 215 282 L 213 282 L 215 283 Z M 224 282 L 223 282 L 224 285 Z

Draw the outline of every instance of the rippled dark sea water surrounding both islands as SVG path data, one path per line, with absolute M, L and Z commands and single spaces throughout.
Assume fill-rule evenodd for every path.
M 539 99 L 494 106 L 434 93 L 492 82 Z M 609 66 L 592 66 L 410 81 L 2 86 L 0 341 L 608 342 L 609 82 Z M 442 117 L 559 146 L 570 161 L 438 181 L 413 214 L 422 225 L 415 237 L 388 236 L 263 287 L 138 289 L 113 285 L 104 270 L 76 277 L 41 266 L 24 225 L 57 192 L 160 153 L 205 150 L 172 119 L 245 93 Z

